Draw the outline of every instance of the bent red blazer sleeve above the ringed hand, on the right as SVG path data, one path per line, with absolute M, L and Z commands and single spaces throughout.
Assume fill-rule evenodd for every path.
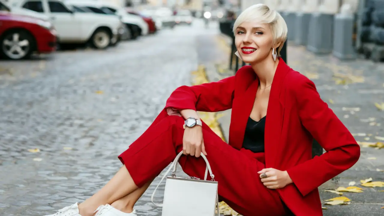
M 326 150 L 323 155 L 287 170 L 293 183 L 305 196 L 353 166 L 360 157 L 360 146 L 327 103 L 321 100 L 311 80 L 300 80 L 293 93 L 301 123 Z

